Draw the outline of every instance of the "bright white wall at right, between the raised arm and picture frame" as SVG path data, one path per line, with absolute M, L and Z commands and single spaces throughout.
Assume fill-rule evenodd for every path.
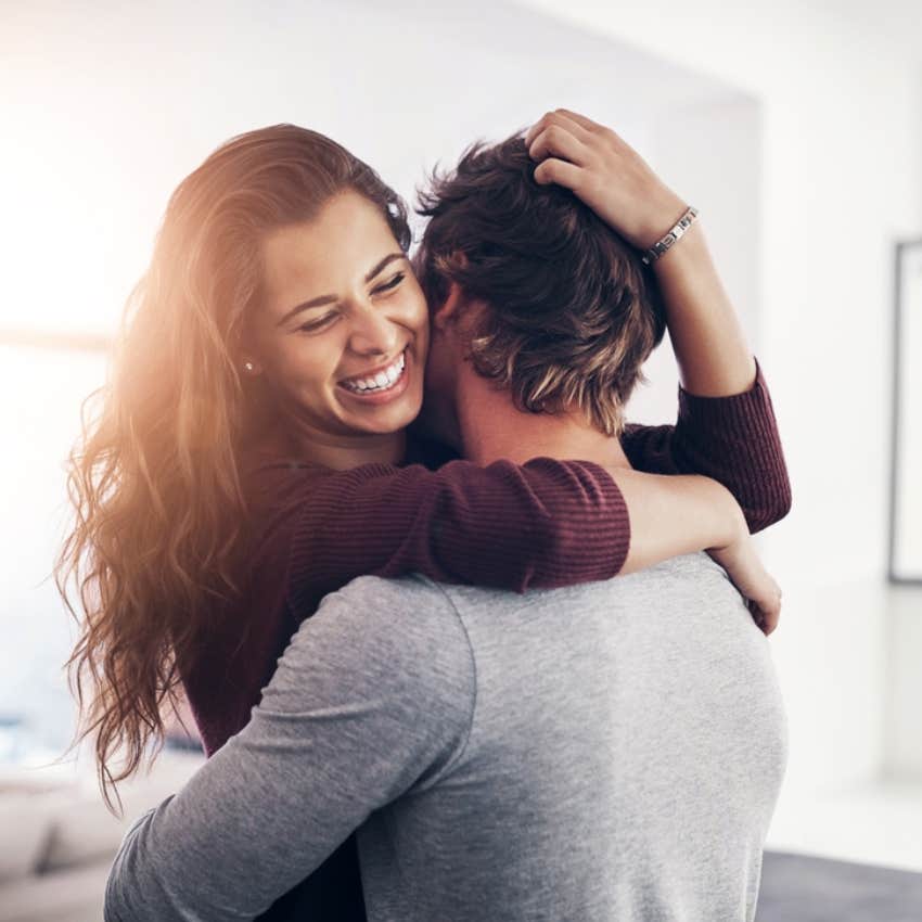
M 636 42 L 761 105 L 757 342 L 795 500 L 765 545 L 785 589 L 772 642 L 791 719 L 787 790 L 873 777 L 888 756 L 893 692 L 892 247 L 922 232 L 922 5 L 521 5 Z M 902 728 L 920 731 L 918 716 Z

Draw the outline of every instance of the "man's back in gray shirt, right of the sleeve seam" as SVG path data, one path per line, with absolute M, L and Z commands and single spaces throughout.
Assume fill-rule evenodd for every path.
M 359 832 L 371 920 L 753 918 L 784 718 L 707 555 L 525 596 L 358 582 L 440 606 L 425 629 L 445 622 L 452 683 L 469 674 L 466 732 Z

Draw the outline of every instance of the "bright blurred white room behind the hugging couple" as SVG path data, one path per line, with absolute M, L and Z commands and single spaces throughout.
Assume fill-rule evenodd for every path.
M 0 87 L 0 922 L 98 922 L 125 823 L 202 758 L 168 747 L 121 821 L 89 754 L 60 758 L 76 632 L 50 576 L 80 405 L 172 189 L 293 121 L 412 201 L 556 106 L 701 210 L 771 387 L 791 756 L 759 920 L 922 919 L 919 0 L 5 0 Z M 667 345 L 648 375 L 630 417 L 671 421 Z

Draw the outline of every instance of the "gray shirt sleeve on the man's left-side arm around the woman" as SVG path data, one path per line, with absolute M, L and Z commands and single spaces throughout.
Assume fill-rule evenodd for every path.
M 474 699 L 438 587 L 355 580 L 300 627 L 249 723 L 129 830 L 106 922 L 255 919 L 373 810 L 450 768 Z

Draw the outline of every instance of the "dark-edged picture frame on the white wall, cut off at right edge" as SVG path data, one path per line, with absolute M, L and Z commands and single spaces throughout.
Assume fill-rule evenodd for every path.
M 922 586 L 922 240 L 896 246 L 891 582 Z

